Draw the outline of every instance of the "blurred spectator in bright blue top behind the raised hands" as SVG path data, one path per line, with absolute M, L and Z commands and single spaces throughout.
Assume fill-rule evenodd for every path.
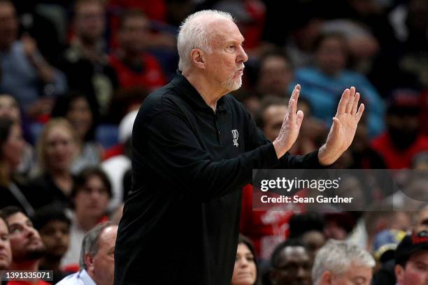
M 314 65 L 298 68 L 295 75 L 302 86 L 302 98 L 307 98 L 313 107 L 313 116 L 331 124 L 343 87 L 355 86 L 366 102 L 369 136 L 373 138 L 383 131 L 382 98 L 364 75 L 345 69 L 348 61 L 345 38 L 341 34 L 322 34 L 314 43 L 314 52 Z

